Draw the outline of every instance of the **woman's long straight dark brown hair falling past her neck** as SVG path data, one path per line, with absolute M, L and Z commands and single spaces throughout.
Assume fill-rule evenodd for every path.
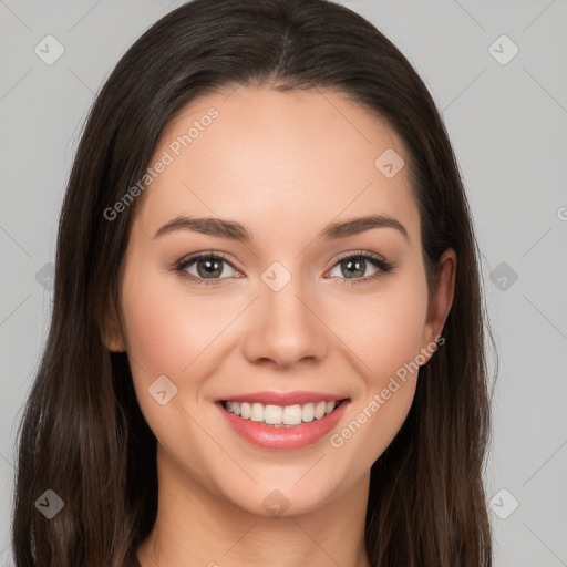
M 430 289 L 457 256 L 445 343 L 420 370 L 406 421 L 371 470 L 365 545 L 377 567 L 489 567 L 489 442 L 480 255 L 456 159 L 425 85 L 371 23 L 327 0 L 195 0 L 152 25 L 96 96 L 62 208 L 49 338 L 24 406 L 13 502 L 18 567 L 136 566 L 157 512 L 156 439 L 126 353 L 101 339 L 161 133 L 188 102 L 231 85 L 332 89 L 401 136 Z M 148 189 L 150 190 L 150 189 Z M 140 200 L 140 199 L 138 199 Z M 109 301 L 110 300 L 110 301 Z M 64 503 L 51 519 L 40 498 Z M 59 501 L 58 501 L 59 502 Z

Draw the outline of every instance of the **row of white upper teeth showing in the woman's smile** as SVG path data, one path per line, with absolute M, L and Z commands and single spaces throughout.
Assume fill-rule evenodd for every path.
M 244 420 L 261 422 L 267 425 L 299 425 L 320 420 L 337 408 L 337 402 L 306 403 L 305 405 L 264 405 L 261 403 L 225 402 L 225 409 Z

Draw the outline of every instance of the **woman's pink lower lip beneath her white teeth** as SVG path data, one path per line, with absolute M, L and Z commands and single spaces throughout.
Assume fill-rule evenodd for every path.
M 243 420 L 225 410 L 221 402 L 217 403 L 223 416 L 236 433 L 252 445 L 272 451 L 302 449 L 319 441 L 337 425 L 344 414 L 348 404 L 349 401 L 344 400 L 331 413 L 320 420 L 313 420 L 291 427 L 276 427 L 275 425 L 264 425 L 251 420 Z

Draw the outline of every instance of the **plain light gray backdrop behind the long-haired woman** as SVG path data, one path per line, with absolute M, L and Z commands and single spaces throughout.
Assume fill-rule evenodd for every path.
M 1 566 L 11 565 L 16 427 L 49 328 L 78 136 L 122 53 L 181 3 L 0 0 Z M 567 566 L 567 3 L 343 3 L 423 78 L 468 192 L 499 358 L 486 472 L 496 566 Z M 56 53 L 48 34 L 64 48 L 51 65 L 34 52 Z

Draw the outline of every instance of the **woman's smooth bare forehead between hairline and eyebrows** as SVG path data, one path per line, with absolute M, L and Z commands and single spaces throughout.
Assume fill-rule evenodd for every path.
M 410 231 L 419 217 L 402 159 L 395 132 L 340 93 L 240 86 L 193 101 L 167 124 L 150 166 L 167 165 L 136 216 L 146 230 L 213 214 L 289 236 L 308 217 L 317 228 L 378 213 Z

